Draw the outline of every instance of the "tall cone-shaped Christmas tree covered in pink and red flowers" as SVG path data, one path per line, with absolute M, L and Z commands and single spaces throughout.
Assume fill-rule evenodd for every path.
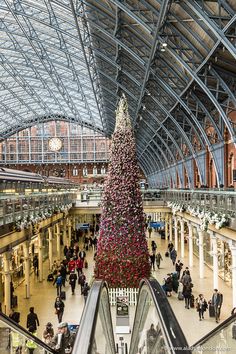
M 138 287 L 150 275 L 135 140 L 123 96 L 116 111 L 102 197 L 95 277 L 110 287 Z

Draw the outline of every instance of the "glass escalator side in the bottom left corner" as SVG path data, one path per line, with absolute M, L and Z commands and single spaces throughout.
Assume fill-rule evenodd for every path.
M 30 334 L 25 328 L 0 313 L 0 354 L 28 353 L 28 346 L 34 348 L 34 353 L 56 353 L 43 341 Z

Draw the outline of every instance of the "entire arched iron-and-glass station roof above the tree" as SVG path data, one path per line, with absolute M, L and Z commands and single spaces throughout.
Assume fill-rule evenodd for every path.
M 125 92 L 140 164 L 236 142 L 235 0 L 0 0 L 0 137 L 52 117 L 111 135 Z

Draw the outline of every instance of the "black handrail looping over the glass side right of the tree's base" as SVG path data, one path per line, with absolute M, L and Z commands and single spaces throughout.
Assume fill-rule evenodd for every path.
M 145 286 L 148 288 L 148 291 L 151 295 L 153 303 L 155 304 L 156 311 L 158 313 L 158 317 L 160 320 L 160 324 L 164 330 L 164 335 L 166 336 L 166 339 L 169 343 L 169 349 L 171 350 L 172 353 L 175 353 L 175 354 L 183 353 L 183 351 L 185 354 L 190 354 L 191 349 L 189 348 L 189 345 L 188 345 L 187 340 L 184 336 L 184 333 L 183 333 L 183 331 L 182 331 L 182 329 L 175 317 L 175 314 L 174 314 L 174 312 L 167 300 L 167 297 L 166 297 L 161 285 L 154 278 L 142 279 L 139 284 L 139 296 L 142 292 L 142 289 Z M 160 300 L 160 301 L 158 301 L 158 300 Z M 139 297 L 138 297 L 134 323 L 135 323 L 136 316 L 139 311 L 139 309 L 138 309 L 139 306 L 141 306 L 141 304 L 139 304 Z M 169 327 L 168 323 L 169 323 L 170 319 L 171 319 L 171 326 Z M 132 333 L 131 342 L 130 342 L 131 345 L 132 345 L 132 341 L 136 340 L 136 338 L 134 338 L 135 333 L 134 333 L 134 331 L 132 331 L 132 332 L 133 333 Z M 131 345 L 130 345 L 130 348 L 131 348 Z

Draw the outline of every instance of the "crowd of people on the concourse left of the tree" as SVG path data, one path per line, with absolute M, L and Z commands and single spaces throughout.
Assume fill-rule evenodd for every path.
M 90 230 L 91 231 L 91 230 Z M 93 230 L 92 230 L 93 231 Z M 78 235 L 76 231 L 72 236 L 72 241 L 69 247 L 64 246 L 64 258 L 61 261 L 55 260 L 50 269 L 47 280 L 52 282 L 56 288 L 56 298 L 54 302 L 55 315 L 58 319 L 57 331 L 51 322 L 48 322 L 43 331 L 42 340 L 54 349 L 59 354 L 70 353 L 74 342 L 74 333 L 69 330 L 67 322 L 63 322 L 65 311 L 66 292 L 64 291 L 67 285 L 70 285 L 71 294 L 84 297 L 86 302 L 90 286 L 88 285 L 84 269 L 88 267 L 86 260 L 87 253 L 93 250 L 96 253 L 97 236 L 94 232 L 84 232 Z M 80 242 L 78 242 L 80 241 Z M 34 258 L 33 262 L 34 274 L 38 275 L 38 258 Z M 79 291 L 75 293 L 76 287 Z M 16 323 L 20 322 L 20 313 L 11 310 L 9 317 Z M 40 325 L 34 307 L 30 307 L 27 315 L 26 328 L 33 336 L 37 337 L 37 328 Z M 27 352 L 33 354 L 38 344 L 31 339 L 23 340 L 22 336 L 14 331 L 11 332 L 11 343 L 15 353 L 21 354 Z

